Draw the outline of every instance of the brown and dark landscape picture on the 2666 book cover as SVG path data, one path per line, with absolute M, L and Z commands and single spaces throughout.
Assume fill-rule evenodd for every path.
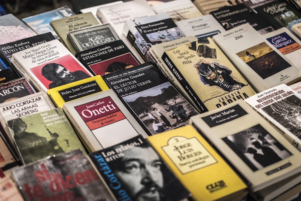
M 248 64 L 262 79 L 268 78 L 291 66 L 265 42 L 237 52 L 236 55 Z

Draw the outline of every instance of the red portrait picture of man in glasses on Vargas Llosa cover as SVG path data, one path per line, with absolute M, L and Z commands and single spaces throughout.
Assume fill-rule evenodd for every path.
M 91 77 L 70 55 L 30 68 L 30 71 L 47 89 Z

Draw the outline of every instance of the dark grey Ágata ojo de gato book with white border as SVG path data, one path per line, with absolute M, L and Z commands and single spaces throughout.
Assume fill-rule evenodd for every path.
M 81 52 L 118 40 L 119 37 L 110 24 L 100 24 L 85 29 L 70 31 L 67 34 L 67 39 L 71 42 L 75 52 Z

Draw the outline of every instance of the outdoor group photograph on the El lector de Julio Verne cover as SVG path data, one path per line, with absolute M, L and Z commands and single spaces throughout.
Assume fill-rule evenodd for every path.
M 188 119 L 197 115 L 197 111 L 169 82 L 123 99 L 153 134 L 188 125 Z

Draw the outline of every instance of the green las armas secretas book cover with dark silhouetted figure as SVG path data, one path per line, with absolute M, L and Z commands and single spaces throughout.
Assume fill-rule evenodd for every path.
M 84 150 L 62 108 L 7 121 L 23 164 L 75 149 Z

